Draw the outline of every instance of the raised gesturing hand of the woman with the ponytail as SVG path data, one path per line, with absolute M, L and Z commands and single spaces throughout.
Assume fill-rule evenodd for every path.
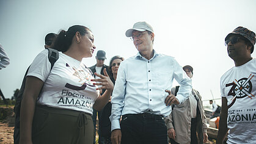
M 91 79 L 90 81 L 95 82 L 93 83 L 93 85 L 102 85 L 102 87 L 98 87 L 97 90 L 106 89 L 106 90 L 112 91 L 114 89 L 114 84 L 109 78 L 106 68 L 104 68 L 103 72 L 104 72 L 104 76 L 102 74 L 94 73 L 95 76 L 98 76 L 101 79 Z

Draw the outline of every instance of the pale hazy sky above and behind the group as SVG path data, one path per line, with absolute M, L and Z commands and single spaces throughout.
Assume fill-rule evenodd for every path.
M 219 79 L 234 66 L 224 38 L 238 26 L 256 32 L 255 7 L 254 0 L 0 0 L 0 43 L 10 57 L 10 65 L 0 70 L 0 88 L 5 98 L 13 96 L 49 32 L 75 24 L 89 27 L 97 48 L 84 62 L 94 65 L 96 52 L 104 50 L 109 65 L 113 56 L 137 54 L 125 31 L 146 21 L 154 29 L 157 52 L 194 68 L 192 85 L 202 99 L 221 98 Z

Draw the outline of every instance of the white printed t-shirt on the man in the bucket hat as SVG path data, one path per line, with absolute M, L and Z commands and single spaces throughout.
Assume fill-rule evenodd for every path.
M 227 143 L 256 143 L 256 59 L 233 67 L 221 77 L 227 98 Z

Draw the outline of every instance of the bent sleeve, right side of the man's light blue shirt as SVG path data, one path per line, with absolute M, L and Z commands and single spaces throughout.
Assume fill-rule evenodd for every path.
M 192 91 L 192 84 L 191 79 L 186 75 L 185 71 L 183 71 L 183 68 L 176 60 L 174 60 L 174 78 L 178 84 L 180 84 L 176 98 L 181 104 L 183 101 L 188 99 Z

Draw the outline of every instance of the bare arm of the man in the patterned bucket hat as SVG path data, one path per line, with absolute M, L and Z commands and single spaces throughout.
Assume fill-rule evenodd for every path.
M 219 120 L 219 132 L 216 143 L 223 143 L 227 131 L 227 98 L 222 97 L 221 117 Z

